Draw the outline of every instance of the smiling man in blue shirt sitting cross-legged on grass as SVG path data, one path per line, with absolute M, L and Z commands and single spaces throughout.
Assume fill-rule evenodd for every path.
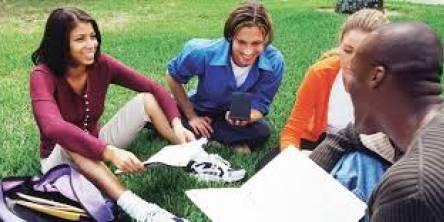
M 271 18 L 259 3 L 235 8 L 225 22 L 224 37 L 188 41 L 169 62 L 166 78 L 189 129 L 249 153 L 270 135 L 263 117 L 282 80 L 283 56 L 270 45 Z M 197 91 L 188 97 L 183 84 L 194 76 Z M 251 93 L 249 120 L 230 117 L 234 92 Z

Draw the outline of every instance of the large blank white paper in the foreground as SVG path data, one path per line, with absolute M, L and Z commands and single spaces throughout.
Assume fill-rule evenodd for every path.
M 356 222 L 366 208 L 296 149 L 285 149 L 240 188 L 186 193 L 215 222 Z

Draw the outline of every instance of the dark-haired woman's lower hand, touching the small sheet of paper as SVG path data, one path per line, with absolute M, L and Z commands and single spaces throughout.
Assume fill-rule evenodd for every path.
M 144 170 L 143 163 L 131 152 L 107 145 L 103 151 L 103 159 L 113 163 L 122 172 L 140 172 Z

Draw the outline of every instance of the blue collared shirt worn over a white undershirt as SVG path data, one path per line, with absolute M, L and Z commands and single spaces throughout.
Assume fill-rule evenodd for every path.
M 269 45 L 253 64 L 247 79 L 239 87 L 231 67 L 231 46 L 225 39 L 192 39 L 168 63 L 168 73 L 177 82 L 188 83 L 198 77 L 197 91 L 190 97 L 200 112 L 223 113 L 231 104 L 233 92 L 253 94 L 252 109 L 267 114 L 282 80 L 283 56 Z

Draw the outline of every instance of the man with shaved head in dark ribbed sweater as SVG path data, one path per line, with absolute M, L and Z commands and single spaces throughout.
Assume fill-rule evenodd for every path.
M 355 123 L 310 157 L 331 171 L 344 154 L 365 149 L 358 133 L 390 138 L 397 161 L 373 190 L 371 221 L 444 220 L 442 62 L 442 43 L 427 25 L 393 23 L 370 34 L 344 68 Z

